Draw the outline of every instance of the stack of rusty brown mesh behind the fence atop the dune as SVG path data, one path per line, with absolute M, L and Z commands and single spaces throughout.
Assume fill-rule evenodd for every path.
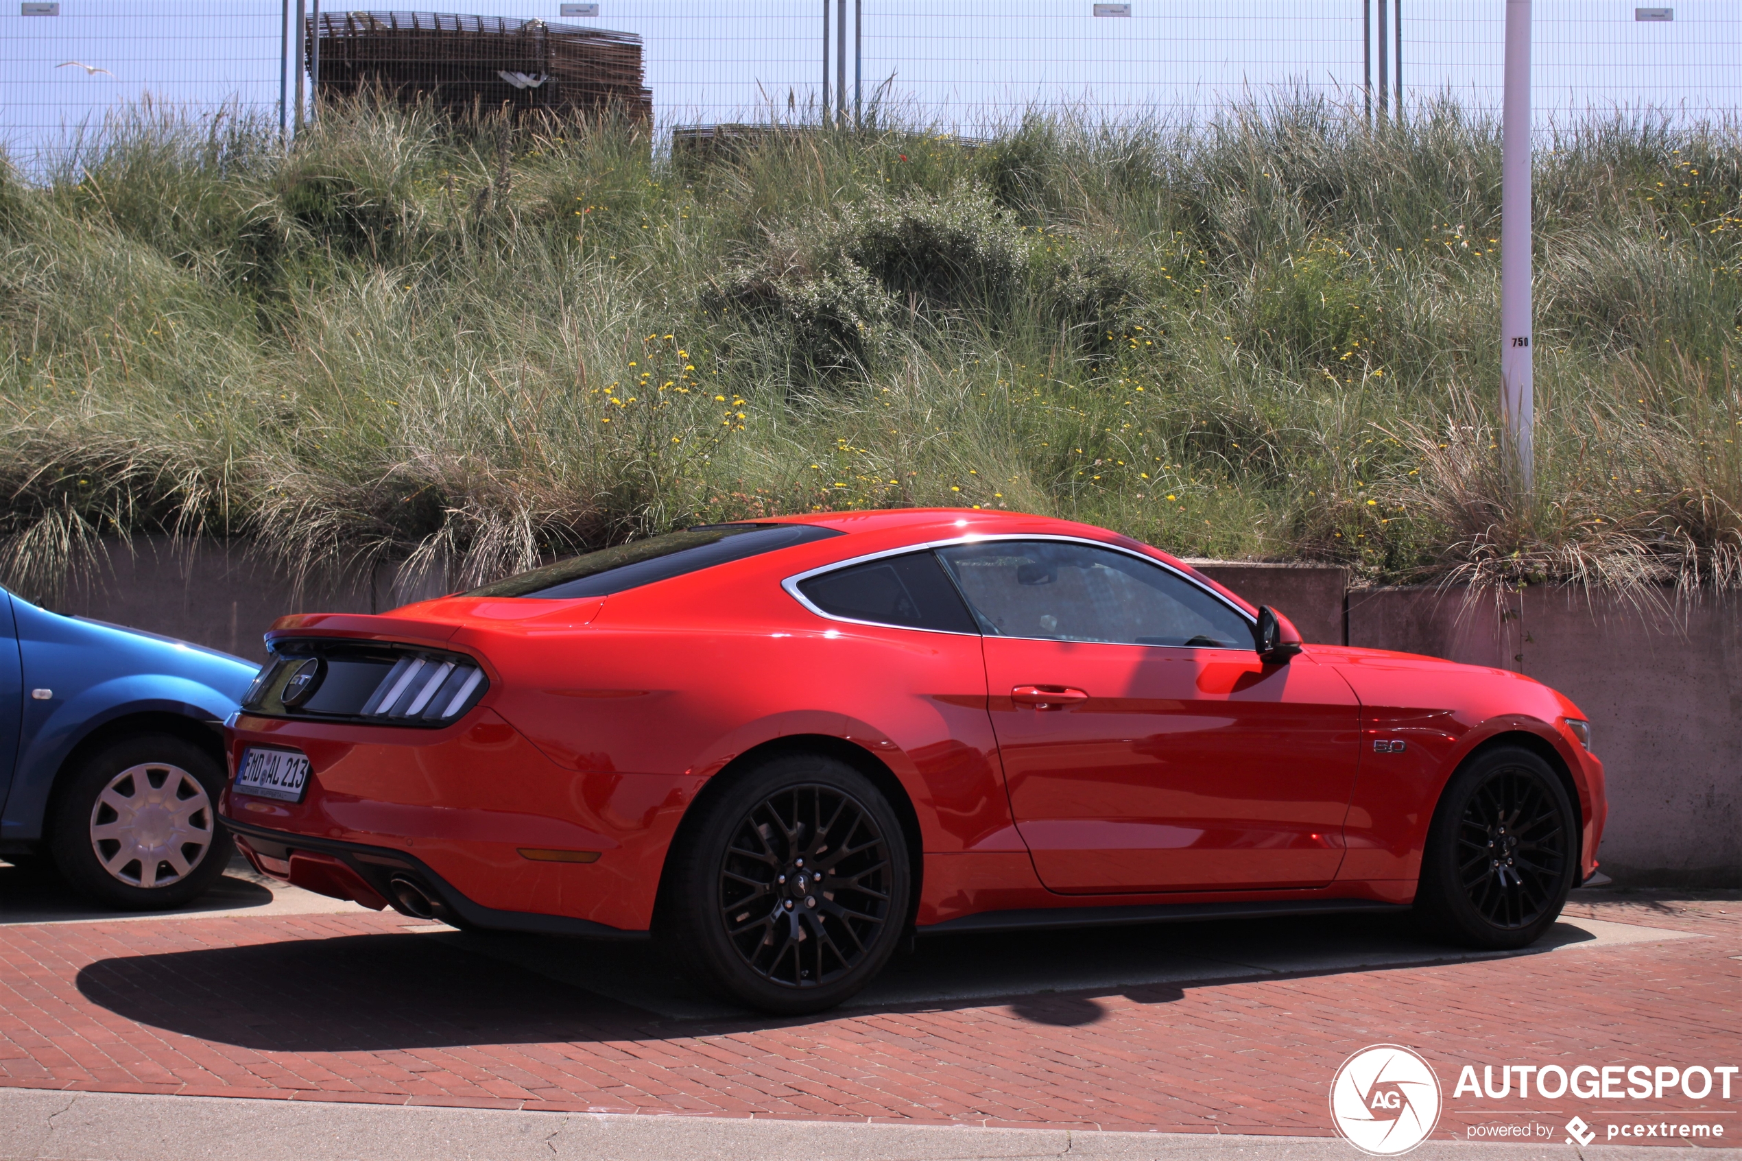
M 317 35 L 319 33 L 319 35 Z M 429 96 L 448 111 L 615 110 L 652 118 L 641 37 L 449 12 L 322 12 L 308 21 L 305 66 L 317 94 L 381 89 L 402 101 Z

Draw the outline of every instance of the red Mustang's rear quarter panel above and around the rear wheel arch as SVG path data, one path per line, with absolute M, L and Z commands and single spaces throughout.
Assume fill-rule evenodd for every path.
M 794 613 L 784 592 L 777 599 Z M 535 649 L 502 637 L 463 644 L 503 677 L 481 705 L 559 766 L 711 776 L 782 736 L 841 738 L 901 780 L 925 849 L 1000 842 L 1010 808 L 979 637 L 803 616 L 815 625 L 594 627 Z M 1009 842 L 1019 848 L 1014 832 Z

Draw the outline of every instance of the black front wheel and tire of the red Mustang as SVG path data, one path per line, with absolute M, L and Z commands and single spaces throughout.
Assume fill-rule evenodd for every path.
M 1564 783 L 1531 750 L 1469 759 L 1428 827 L 1415 902 L 1421 931 L 1484 950 L 1535 943 L 1573 889 L 1577 820 Z

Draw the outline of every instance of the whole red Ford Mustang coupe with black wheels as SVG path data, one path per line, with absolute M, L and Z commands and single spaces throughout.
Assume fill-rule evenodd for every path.
M 1554 689 L 1301 644 L 1148 545 L 1005 512 L 692 527 L 268 644 L 221 804 L 261 872 L 657 933 L 768 1011 L 913 931 L 1413 907 L 1521 947 L 1606 813 Z

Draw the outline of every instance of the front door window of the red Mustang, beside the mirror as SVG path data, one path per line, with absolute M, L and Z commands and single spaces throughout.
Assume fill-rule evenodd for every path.
M 1047 540 L 939 548 L 981 630 L 1043 641 L 1251 649 L 1233 607 L 1176 573 L 1111 548 Z

